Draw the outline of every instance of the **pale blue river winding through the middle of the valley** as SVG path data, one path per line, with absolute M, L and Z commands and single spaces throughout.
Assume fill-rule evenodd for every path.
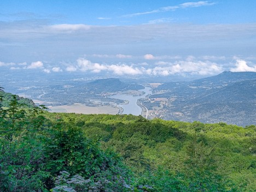
M 141 96 L 117 94 L 110 96 L 110 98 L 118 98 L 119 100 L 129 101 L 128 104 L 119 104 L 119 107 L 124 109 L 122 114 L 141 115 L 142 108 L 137 105 L 137 101 L 139 98 L 145 98 L 147 95 L 152 95 L 152 90 L 151 88 L 146 86 L 145 89 L 141 89 L 139 91 L 143 91 L 145 92 L 145 94 Z

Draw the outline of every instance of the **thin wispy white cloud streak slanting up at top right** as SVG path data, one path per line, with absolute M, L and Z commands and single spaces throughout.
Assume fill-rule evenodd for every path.
M 182 8 L 201 7 L 201 6 L 213 5 L 213 4 L 215 4 L 215 3 L 210 3 L 208 1 L 188 2 L 188 3 L 182 3 L 182 4 L 174 5 L 174 6 L 161 7 L 159 9 L 154 9 L 152 11 L 146 11 L 146 12 L 141 12 L 141 13 L 133 13 L 133 14 L 128 14 L 128 15 L 123 15 L 123 17 L 147 15 L 147 14 L 152 14 L 152 13 L 162 13 L 162 12 L 174 11 L 174 10 L 182 9 Z

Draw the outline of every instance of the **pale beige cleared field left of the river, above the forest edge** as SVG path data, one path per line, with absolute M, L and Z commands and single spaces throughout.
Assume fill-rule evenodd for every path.
M 82 113 L 82 114 L 117 114 L 118 108 L 110 106 L 88 107 L 84 104 L 70 104 L 63 106 L 48 106 L 49 112 L 57 113 Z

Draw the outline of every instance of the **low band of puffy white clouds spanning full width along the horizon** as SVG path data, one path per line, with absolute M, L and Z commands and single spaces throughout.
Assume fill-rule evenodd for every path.
M 120 58 L 128 57 L 129 55 L 120 55 Z M 151 54 L 146 54 L 143 56 L 144 60 L 153 62 L 151 64 L 147 62 L 141 63 L 97 63 L 92 62 L 88 59 L 79 58 L 75 63 L 72 64 L 62 64 L 62 66 L 51 67 L 44 66 L 42 61 L 32 62 L 30 65 L 27 63 L 4 63 L 0 61 L 0 67 L 8 67 L 11 70 L 40 70 L 44 73 L 51 72 L 84 72 L 84 73 L 109 73 L 115 75 L 153 75 L 153 76 L 167 76 L 167 75 L 216 75 L 223 71 L 231 72 L 256 72 L 256 65 L 252 62 L 237 59 L 236 63 L 229 63 L 228 65 L 223 65 L 217 62 L 208 60 L 197 60 L 198 58 L 194 56 L 188 56 L 185 60 L 179 59 L 174 61 L 167 60 L 157 60 L 156 57 L 166 57 L 166 56 L 153 56 Z M 212 58 L 213 56 L 207 56 L 207 58 Z M 213 57 L 213 59 L 216 59 Z M 224 59 L 219 57 L 220 60 Z M 63 67 L 63 65 L 65 67 Z M 23 67 L 22 67 L 23 66 Z

